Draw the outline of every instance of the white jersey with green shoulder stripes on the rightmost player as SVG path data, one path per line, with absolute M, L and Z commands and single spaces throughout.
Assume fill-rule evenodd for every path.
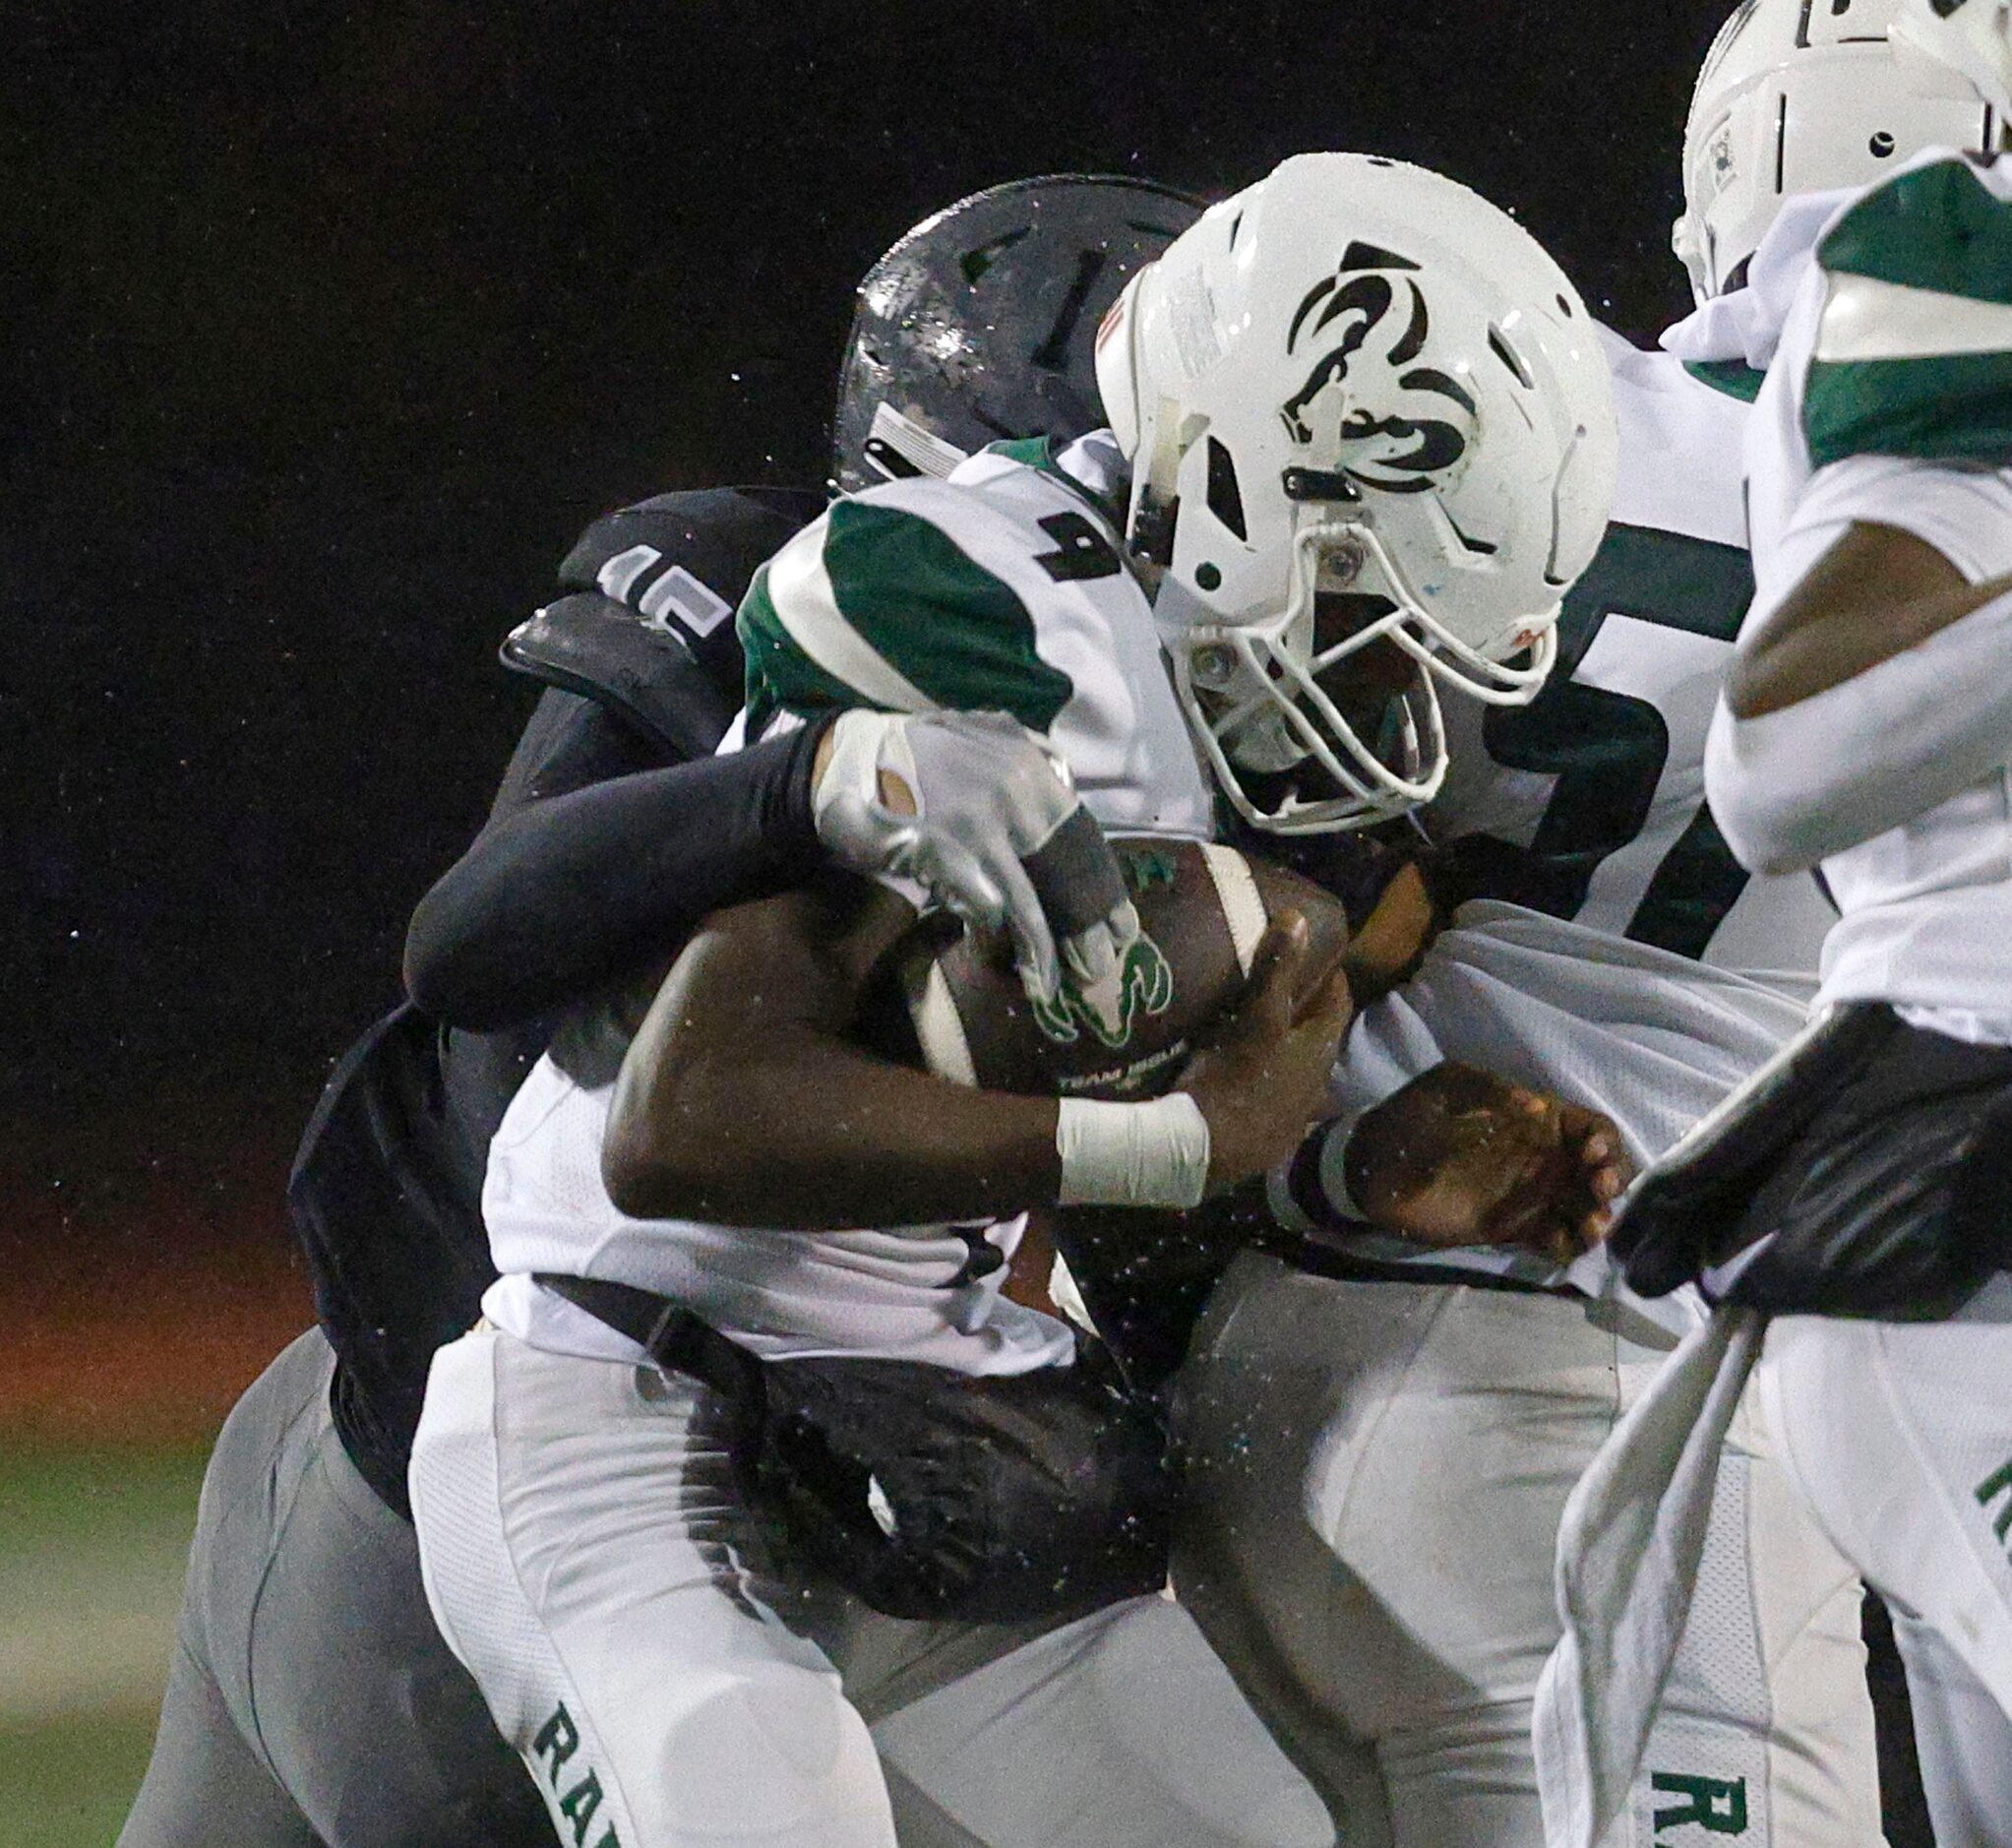
M 1974 582 L 2012 570 L 2012 167 L 1936 149 L 1807 205 L 1754 258 L 1775 312 L 1738 330 L 1769 358 L 1746 441 L 1752 624 L 1855 519 L 1919 535 Z M 1825 860 L 1843 918 L 1823 998 L 2012 1037 L 2008 870 L 2002 771 Z

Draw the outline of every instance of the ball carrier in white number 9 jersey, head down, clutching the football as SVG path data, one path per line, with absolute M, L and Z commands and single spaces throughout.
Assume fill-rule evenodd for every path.
M 1386 666 L 1402 686 L 1398 723 L 1364 739 L 1336 715 L 1338 727 L 1308 737 L 1310 747 L 1318 739 L 1326 781 L 1300 777 L 1284 797 L 1286 805 L 1332 801 L 1364 813 L 1414 799 L 1437 781 L 1441 676 L 1491 690 L 1509 682 L 1511 692 L 1531 684 L 1529 670 L 1497 662 L 1533 644 L 1541 658 L 1557 594 L 1598 535 L 1612 449 L 1606 374 L 1563 276 L 1465 189 L 1394 163 L 1308 157 L 1213 213 L 1211 236 L 1233 240 L 1243 211 L 1255 232 L 1266 187 L 1274 215 L 1286 209 L 1302 227 L 1340 213 L 1380 234 L 1308 250 L 1304 240 L 1280 240 L 1274 223 L 1268 240 L 1253 240 L 1270 264 L 1308 270 L 1274 278 L 1264 338 L 1286 334 L 1294 302 L 1304 312 L 1292 332 L 1310 316 L 1318 326 L 1304 326 L 1308 344 L 1298 356 L 1288 352 L 1284 364 L 1268 356 L 1270 366 L 1258 368 L 1266 389 L 1294 372 L 1302 417 L 1286 439 L 1274 439 L 1282 457 L 1249 453 L 1241 485 L 1251 517 L 1290 540 L 1288 556 L 1272 564 L 1278 582 L 1304 592 L 1298 614 L 1308 630 L 1316 628 L 1318 574 L 1342 560 L 1364 588 L 1388 588 L 1400 604 L 1374 614 L 1366 624 L 1374 632 L 1354 646 L 1342 646 L 1350 636 L 1332 644 L 1336 656 L 1366 658 L 1374 658 L 1372 644 L 1388 644 L 1394 662 Z M 1364 193 L 1368 207 L 1348 219 L 1342 203 L 1360 203 Z M 1461 320 L 1461 308 L 1475 302 L 1473 266 L 1449 276 L 1437 240 L 1418 238 L 1435 244 L 1422 264 L 1388 250 L 1390 232 L 1420 207 L 1455 246 L 1463 225 L 1485 215 L 1489 254 L 1521 264 L 1519 284 L 1543 284 L 1523 294 L 1509 286 L 1521 326 L 1499 336 L 1509 356 L 1497 356 L 1485 378 L 1463 382 L 1429 362 L 1408 366 L 1435 346 L 1420 286 L 1443 284 L 1439 346 L 1461 348 L 1469 364 L 1487 350 L 1487 328 Z M 1251 268 L 1266 276 L 1266 262 Z M 1404 270 L 1420 272 L 1416 282 L 1398 276 L 1396 288 L 1410 290 L 1406 328 L 1386 342 L 1390 350 L 1354 362 L 1362 336 L 1382 320 L 1360 310 L 1358 284 L 1366 278 L 1388 296 L 1390 272 Z M 1278 290 L 1288 284 L 1280 312 Z M 1483 308 L 1503 294 L 1501 284 L 1485 290 Z M 1229 334 L 1243 328 L 1211 328 L 1209 314 L 1203 304 L 1183 322 L 1185 334 L 1227 344 L 1235 364 Z M 1406 342 L 1408 352 L 1398 350 Z M 1330 395 L 1352 362 L 1356 391 Z M 1388 415 L 1370 413 L 1368 429 L 1354 427 L 1350 399 L 1356 411 L 1380 403 Z M 1424 401 L 1439 401 L 1437 419 Z M 1477 401 L 1489 407 L 1481 429 Z M 1491 455 L 1507 445 L 1489 431 L 1517 429 L 1519 401 L 1531 437 L 1519 467 L 1497 475 Z M 1276 419 L 1270 405 L 1266 419 Z M 1451 451 L 1441 429 L 1455 439 Z M 1171 447 L 1173 433 L 1165 435 Z M 1141 441 L 1135 481 L 1163 485 L 1161 461 L 1161 443 Z M 1219 475 L 1213 463 L 1211 473 Z M 1099 477 L 1125 485 L 1111 445 L 1076 445 L 1062 457 L 1040 447 L 978 457 L 952 487 L 909 481 L 841 501 L 785 548 L 742 612 L 750 719 L 789 723 L 833 703 L 903 711 L 986 699 L 1050 731 L 1107 825 L 1205 833 L 1205 785 L 1161 674 L 1147 606 L 1099 507 Z M 1388 548 L 1366 570 L 1360 552 L 1334 542 L 1346 533 L 1360 544 L 1366 495 L 1356 483 L 1378 487 L 1380 477 L 1441 489 L 1467 537 L 1439 527 L 1437 548 L 1471 558 L 1501 550 L 1501 568 L 1477 570 L 1473 588 L 1416 582 L 1398 570 L 1422 564 L 1416 529 L 1402 531 L 1392 513 Z M 928 509 L 911 505 L 917 497 Z M 1217 570 L 1227 576 L 1233 564 L 1251 560 L 1225 554 Z M 1193 576 L 1207 584 L 1199 570 Z M 1505 584 L 1507 596 L 1491 596 Z M 1509 602 L 1519 592 L 1523 608 Z M 1332 614 L 1346 622 L 1360 612 L 1344 604 Z M 1332 666 L 1310 662 L 1310 640 L 1286 656 L 1308 678 Z M 1217 692 L 1231 692 L 1229 678 Z M 1338 684 L 1314 690 L 1326 701 Z M 1241 719 L 1219 705 L 1211 723 L 1221 739 Z M 1266 727 L 1255 733 L 1249 743 L 1262 745 Z M 1270 753 L 1253 751 L 1268 773 L 1282 767 L 1278 741 L 1270 745 Z M 867 763 L 869 773 L 889 767 Z M 722 918 L 652 1009 L 606 1133 L 608 1182 L 628 1212 L 602 1180 L 610 1085 L 557 1067 L 541 1067 L 527 1083 L 497 1135 L 485 1200 L 505 1272 L 489 1298 L 497 1327 L 443 1351 L 414 1445 L 414 1514 L 443 1633 L 519 1751 L 551 1774 L 555 1818 L 583 1840 L 610 1830 L 634 1842 L 831 1844 L 885 1842 L 889 1832 L 871 1749 L 829 1663 L 759 1602 L 761 1588 L 740 1568 L 742 1512 L 726 1474 L 718 1395 L 684 1375 L 640 1367 L 650 1349 L 583 1308 L 592 1292 L 545 1280 L 614 1280 L 664 1304 L 696 1306 L 763 1355 L 893 1353 L 972 1375 L 1054 1365 L 1066 1357 L 1058 1325 L 1004 1302 L 996 1270 L 968 1262 L 968 1236 L 734 1234 L 686 1214 L 704 1202 L 708 1214 L 744 1226 L 843 1228 L 871 1218 L 996 1222 L 1054 1200 L 1193 1204 L 1203 1186 L 1253 1172 L 1298 1137 L 1346 1019 L 1346 992 L 1332 980 L 1306 1017 L 1290 1019 L 1278 992 L 1296 956 L 1288 942 L 1278 950 L 1276 1000 L 1260 1009 L 1272 1021 L 1260 1021 L 1255 1039 L 1245 1033 L 1221 1049 L 1171 1099 L 1080 1109 L 974 1097 L 885 1067 L 869 1073 L 835 1041 L 813 1053 L 815 1035 L 799 1031 L 797 1055 L 823 1057 L 847 1103 L 829 1123 L 803 1121 L 799 1111 L 771 1125 L 793 1133 L 801 1166 L 821 1174 L 817 1218 L 807 1220 L 789 1174 L 736 1168 L 750 1123 L 773 1117 L 785 1093 L 744 1075 L 726 1081 L 720 1067 L 680 1093 L 674 1047 L 660 1047 L 676 1041 L 680 1017 L 716 1021 L 724 1005 L 738 1009 L 736 1039 L 759 1075 L 771 1051 L 761 1035 L 771 994 L 781 994 L 781 1019 L 791 1019 L 781 992 L 791 972 L 785 940 L 801 910 L 785 902 L 767 920 Z M 879 904 L 869 912 L 881 932 L 903 916 Z M 795 1019 L 797 1029 L 807 1025 L 823 1023 Z M 579 1059 L 569 1063 L 581 1069 Z M 1010 1252 L 1016 1236 L 1012 1222 L 994 1224 L 980 1244 Z M 606 1302 L 606 1294 L 592 1300 Z

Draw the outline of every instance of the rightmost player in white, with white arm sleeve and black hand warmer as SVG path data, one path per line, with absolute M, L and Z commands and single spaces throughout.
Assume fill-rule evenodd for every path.
M 1952 143 L 2000 145 L 2004 4 L 1905 0 L 1885 68 Z M 1712 723 L 1712 803 L 1744 864 L 1821 866 L 1841 918 L 1821 1027 L 1644 1188 L 1622 1250 L 1644 1282 L 1702 1270 L 1724 1300 L 1686 1361 L 1724 1381 L 1758 1351 L 1797 1490 L 1893 1608 L 1936 1838 L 1980 1848 L 2012 1842 L 2012 183 L 1996 153 L 1895 165 L 1791 201 L 1744 300 L 1680 330 L 1767 374 L 1746 441 L 1756 598 Z M 1559 1806 L 1559 1842 L 1591 1838 L 1612 1788 L 1575 1737 L 1569 1657 L 1646 1635 L 1618 1596 L 1642 1556 L 1614 1546 L 1608 1484 L 1646 1500 L 1672 1476 L 1656 1464 L 1630 1429 L 1575 1500 L 1577 1623 L 1547 1681 L 1567 1685 L 1561 1743 L 1591 1800 Z M 1638 1713 L 1608 1717 L 1632 1737 Z

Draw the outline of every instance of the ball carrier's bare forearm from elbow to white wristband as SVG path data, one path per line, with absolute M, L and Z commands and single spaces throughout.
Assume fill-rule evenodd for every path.
M 761 1059 L 632 1063 L 602 1176 L 636 1218 L 843 1230 L 1004 1218 L 1060 1188 L 1056 1105 L 815 1035 Z

